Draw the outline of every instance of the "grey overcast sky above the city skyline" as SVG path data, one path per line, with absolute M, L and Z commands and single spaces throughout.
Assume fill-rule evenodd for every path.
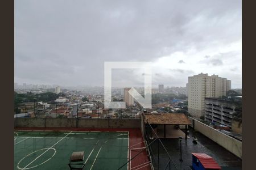
M 152 84 L 217 74 L 242 87 L 241 1 L 15 1 L 16 83 L 104 86 L 105 61 L 151 61 Z M 115 87 L 143 83 L 113 70 Z M 143 86 L 143 85 L 142 85 Z

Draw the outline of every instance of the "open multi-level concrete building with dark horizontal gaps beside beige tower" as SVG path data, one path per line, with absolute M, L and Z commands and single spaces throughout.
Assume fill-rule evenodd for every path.
M 235 108 L 236 104 L 233 101 L 206 97 L 204 120 L 232 128 Z

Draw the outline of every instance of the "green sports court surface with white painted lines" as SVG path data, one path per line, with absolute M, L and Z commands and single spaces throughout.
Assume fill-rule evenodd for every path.
M 76 151 L 84 151 L 84 169 L 118 169 L 127 162 L 128 145 L 128 132 L 16 131 L 14 169 L 69 169 Z

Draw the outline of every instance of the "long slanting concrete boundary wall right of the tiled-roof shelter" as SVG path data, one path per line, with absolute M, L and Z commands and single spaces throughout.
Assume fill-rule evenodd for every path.
M 189 117 L 191 118 L 191 117 Z M 191 118 L 193 119 L 193 118 Z M 213 129 L 212 127 L 203 124 L 200 121 L 193 119 L 195 130 L 199 131 L 201 134 L 212 139 L 218 145 L 226 148 L 226 150 L 232 152 L 234 155 L 237 155 L 239 158 L 242 158 L 242 142 L 229 137 L 228 135 L 221 133 L 220 131 Z M 193 124 L 193 122 L 192 122 Z

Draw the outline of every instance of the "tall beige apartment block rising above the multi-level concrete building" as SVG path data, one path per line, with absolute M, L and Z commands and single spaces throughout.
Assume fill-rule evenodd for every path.
M 198 74 L 188 77 L 188 112 L 194 117 L 204 116 L 205 97 L 225 96 L 231 80 L 218 75 Z

